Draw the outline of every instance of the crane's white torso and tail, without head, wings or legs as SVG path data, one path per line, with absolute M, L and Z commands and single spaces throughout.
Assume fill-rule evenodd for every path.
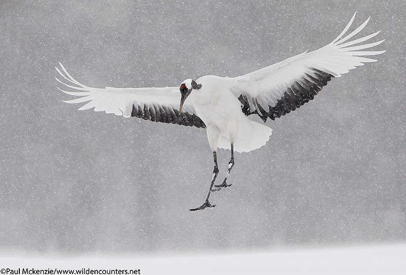
M 241 112 L 241 102 L 230 89 L 233 81 L 233 78 L 218 76 L 201 77 L 196 81 L 201 88 L 188 97 L 196 115 L 207 126 L 213 152 L 217 148 L 230 149 L 231 144 L 237 152 L 250 152 L 265 145 L 272 134 L 272 129 Z

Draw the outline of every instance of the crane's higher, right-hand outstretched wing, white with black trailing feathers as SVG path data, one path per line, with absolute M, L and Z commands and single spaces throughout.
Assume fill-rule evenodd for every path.
M 332 77 L 340 77 L 365 62 L 377 61 L 362 56 L 378 55 L 385 51 L 362 50 L 377 46 L 384 40 L 354 45 L 375 37 L 379 31 L 349 41 L 365 27 L 369 18 L 342 38 L 354 21 L 355 14 L 340 35 L 327 46 L 234 78 L 232 92 L 240 99 L 244 114 L 257 114 L 264 122 L 268 117 L 275 120 L 313 99 Z

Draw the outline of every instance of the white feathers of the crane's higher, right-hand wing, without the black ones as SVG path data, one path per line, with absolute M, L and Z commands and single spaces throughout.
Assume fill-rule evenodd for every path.
M 286 92 L 292 86 L 300 85 L 300 83 L 303 84 L 303 82 L 307 84 L 309 84 L 309 82 L 317 83 L 313 79 L 313 77 L 320 77 L 320 75 L 315 72 L 316 70 L 331 75 L 332 77 L 340 77 L 342 74 L 348 73 L 349 70 L 356 66 L 363 65 L 365 62 L 377 61 L 363 56 L 378 55 L 385 51 L 360 50 L 375 47 L 384 40 L 358 46 L 353 45 L 365 42 L 377 36 L 379 31 L 347 42 L 365 27 L 369 18 L 348 36 L 342 38 L 354 21 L 355 14 L 340 35 L 330 44 L 312 52 L 298 54 L 247 75 L 236 77 L 232 92 L 236 97 L 240 97 L 241 95 L 245 96 L 247 106 L 249 106 L 248 112 L 250 114 L 258 113 L 260 116 L 269 116 L 274 119 L 275 117 L 272 117 L 272 114 L 262 113 L 271 112 L 272 110 L 270 111 L 270 108 L 275 107 L 278 104 L 278 100 L 287 96 Z M 319 86 L 319 88 L 316 89 L 316 93 L 322 88 L 320 83 L 318 83 L 317 86 Z M 302 102 L 301 105 L 303 103 L 304 102 Z M 262 113 L 258 108 L 258 104 L 261 106 Z M 293 106 L 291 110 L 298 107 L 300 106 Z M 282 115 L 284 115 L 284 113 Z

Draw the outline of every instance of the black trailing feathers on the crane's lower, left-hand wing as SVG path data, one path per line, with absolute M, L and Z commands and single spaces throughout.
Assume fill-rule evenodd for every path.
M 131 117 L 138 117 L 145 120 L 179 124 L 184 126 L 195 126 L 197 128 L 206 128 L 206 124 L 196 115 L 182 112 L 166 107 L 147 107 L 132 105 Z

